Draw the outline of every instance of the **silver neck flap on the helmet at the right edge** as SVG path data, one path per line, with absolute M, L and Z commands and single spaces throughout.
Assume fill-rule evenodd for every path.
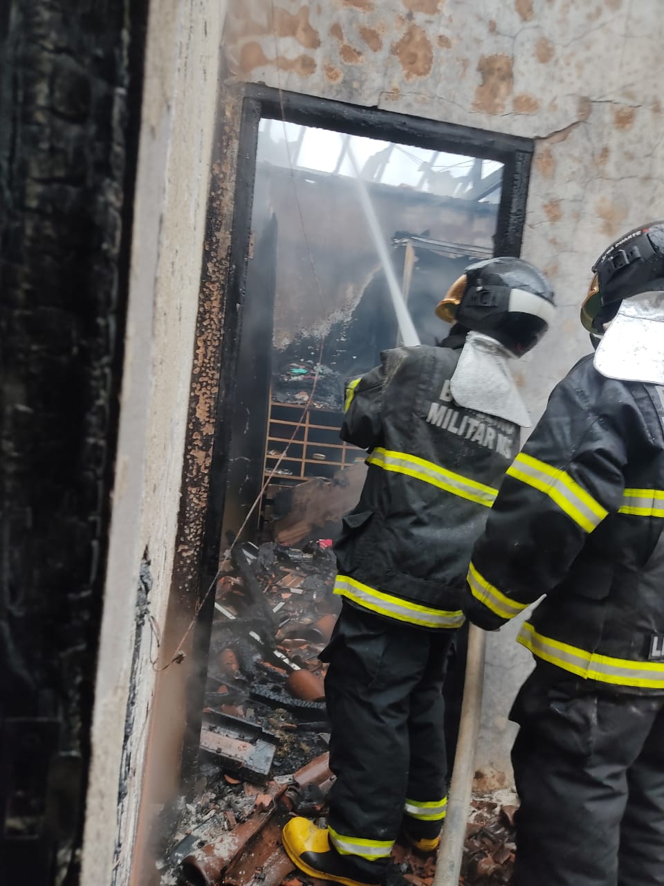
M 664 292 L 623 299 L 594 362 L 607 378 L 664 385 Z

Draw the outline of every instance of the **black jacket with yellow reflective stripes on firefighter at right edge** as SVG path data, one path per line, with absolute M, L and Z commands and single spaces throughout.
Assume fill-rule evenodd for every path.
M 507 470 L 468 572 L 475 624 L 546 595 L 519 641 L 618 692 L 664 691 L 663 395 L 577 363 Z

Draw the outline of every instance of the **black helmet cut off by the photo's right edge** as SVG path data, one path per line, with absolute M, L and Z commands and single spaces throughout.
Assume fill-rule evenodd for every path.
M 664 290 L 664 221 L 651 221 L 619 237 L 592 266 L 594 274 L 581 306 L 581 322 L 602 335 L 622 299 Z

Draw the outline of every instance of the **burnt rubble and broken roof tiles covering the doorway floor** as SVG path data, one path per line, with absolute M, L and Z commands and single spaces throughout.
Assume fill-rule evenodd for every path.
M 196 800 L 166 811 L 161 886 L 315 886 L 282 849 L 291 814 L 325 825 L 329 724 L 321 650 L 340 609 L 330 540 L 237 545 L 217 587 Z M 463 886 L 509 882 L 513 809 L 475 798 Z M 435 858 L 396 843 L 388 886 L 431 886 Z

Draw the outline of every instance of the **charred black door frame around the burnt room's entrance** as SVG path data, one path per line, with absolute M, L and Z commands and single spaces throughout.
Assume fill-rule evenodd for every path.
M 498 160 L 504 164 L 504 172 L 494 237 L 494 253 L 518 256 L 521 252 L 530 165 L 534 152 L 534 142 L 531 139 L 411 117 L 377 108 L 347 105 L 327 98 L 305 96 L 252 84 L 244 87 L 235 175 L 232 239 L 225 293 L 224 349 L 220 365 L 220 384 L 210 462 L 210 486 L 197 585 L 199 600 L 204 599 L 219 568 L 221 525 L 228 478 L 230 418 L 235 398 L 235 372 L 238 343 L 242 334 L 242 311 L 250 253 L 256 152 L 259 123 L 263 118 L 326 128 L 351 136 L 380 138 L 441 152 L 465 153 L 477 158 Z M 204 262 L 204 268 L 206 264 Z M 213 275 L 207 276 L 204 271 L 203 288 L 205 289 L 205 284 L 212 283 L 219 284 L 219 281 L 214 280 Z M 196 766 L 213 612 L 214 595 L 211 593 L 198 613 L 193 648 L 205 652 L 197 653 L 199 660 L 187 694 L 189 728 L 184 745 L 181 775 L 189 789 Z

